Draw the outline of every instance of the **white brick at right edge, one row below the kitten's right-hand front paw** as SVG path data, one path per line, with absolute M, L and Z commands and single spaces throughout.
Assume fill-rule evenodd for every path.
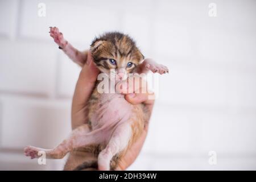
M 255 152 L 254 109 L 162 105 L 156 102 L 146 151 L 222 154 Z

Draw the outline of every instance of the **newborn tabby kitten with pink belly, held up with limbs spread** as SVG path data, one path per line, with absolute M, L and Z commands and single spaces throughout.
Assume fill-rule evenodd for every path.
M 63 51 L 81 67 L 88 52 L 80 52 L 63 38 L 58 28 L 50 27 L 50 35 Z M 147 59 L 134 41 L 119 32 L 109 32 L 93 40 L 90 46 L 93 61 L 102 73 L 109 76 L 115 71 L 115 80 L 125 80 L 128 73 L 146 73 L 148 70 L 160 74 L 168 72 L 167 67 Z M 94 167 L 100 170 L 116 169 L 119 159 L 140 137 L 150 113 L 143 104 L 132 105 L 120 93 L 98 93 L 95 88 L 88 101 L 88 123 L 77 127 L 71 136 L 57 147 L 44 149 L 27 146 L 26 156 L 38 158 L 39 151 L 45 151 L 50 159 L 61 159 L 68 152 L 84 148 L 94 153 L 96 160 L 86 161 L 76 169 Z M 89 126 L 89 127 L 88 127 Z

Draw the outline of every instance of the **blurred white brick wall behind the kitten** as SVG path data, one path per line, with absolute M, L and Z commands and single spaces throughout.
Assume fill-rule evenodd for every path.
M 80 68 L 57 49 L 49 26 L 79 49 L 104 31 L 123 31 L 171 69 L 159 77 L 148 137 L 129 169 L 256 169 L 256 3 L 216 0 L 210 18 L 211 2 L 1 0 L 0 169 L 65 162 L 39 166 L 22 152 L 27 144 L 53 147 L 71 131 Z

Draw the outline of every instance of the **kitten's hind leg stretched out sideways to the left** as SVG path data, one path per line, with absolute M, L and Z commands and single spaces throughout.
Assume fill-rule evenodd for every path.
M 27 146 L 24 148 L 24 154 L 30 156 L 31 159 L 39 158 L 38 152 L 46 152 L 46 158 L 48 159 L 61 159 L 69 151 L 74 148 L 79 148 L 86 146 L 88 144 L 100 143 L 104 139 L 101 137 L 102 131 L 91 131 L 87 124 L 77 127 L 77 129 L 72 131 L 71 136 L 68 139 L 65 139 L 59 144 L 59 146 L 52 149 L 38 148 L 33 146 Z

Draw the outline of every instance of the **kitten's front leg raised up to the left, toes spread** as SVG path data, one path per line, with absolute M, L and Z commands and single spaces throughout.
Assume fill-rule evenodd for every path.
M 80 52 L 74 48 L 67 40 L 64 39 L 63 34 L 59 32 L 57 27 L 50 27 L 50 36 L 54 39 L 54 42 L 58 44 L 59 48 L 62 49 L 68 57 L 79 64 L 81 67 L 85 64 L 87 59 L 87 51 Z

